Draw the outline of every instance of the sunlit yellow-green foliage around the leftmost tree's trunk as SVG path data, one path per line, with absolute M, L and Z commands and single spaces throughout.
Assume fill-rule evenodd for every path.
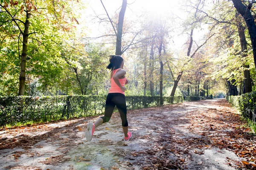
M 70 79 L 67 79 L 70 74 L 69 67 L 61 56 L 61 51 L 73 50 L 73 55 L 85 54 L 84 48 L 81 48 L 83 45 L 72 43 L 70 40 L 70 37 L 76 37 L 74 23 L 78 23 L 75 15 L 77 12 L 73 11 L 76 10 L 73 6 L 75 4 L 76 1 L 73 0 L 5 1 L 1 4 L 0 9 L 3 12 L 0 18 L 0 95 L 17 95 L 23 30 L 29 10 L 31 17 L 26 44 L 28 48 L 25 94 L 29 94 L 29 82 L 34 79 L 40 83 L 38 88 L 43 91 L 71 86 Z M 82 6 L 81 3 L 79 5 Z

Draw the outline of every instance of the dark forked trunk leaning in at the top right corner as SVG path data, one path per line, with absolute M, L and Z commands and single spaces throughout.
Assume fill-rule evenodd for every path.
M 253 59 L 254 59 L 254 64 L 256 66 L 256 24 L 254 21 L 254 17 L 251 14 L 251 7 L 253 3 L 250 3 L 249 1 L 249 6 L 246 7 L 241 0 L 232 0 L 234 3 L 234 6 L 236 10 L 244 17 L 245 23 L 247 25 L 249 34 L 250 34 L 250 40 L 252 42 L 252 47 L 253 47 Z

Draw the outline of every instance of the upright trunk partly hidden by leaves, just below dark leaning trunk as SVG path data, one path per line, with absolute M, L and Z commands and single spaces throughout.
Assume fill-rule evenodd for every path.
M 239 38 L 240 38 L 240 45 L 241 45 L 241 52 L 242 52 L 242 57 L 247 57 L 247 42 L 245 39 L 245 34 L 244 34 L 244 26 L 242 25 L 241 22 L 239 22 L 239 26 L 237 26 L 238 32 L 239 32 Z M 243 67 L 244 69 L 244 88 L 245 88 L 245 93 L 251 92 L 252 91 L 252 83 L 250 79 L 250 70 L 249 65 L 244 64 Z

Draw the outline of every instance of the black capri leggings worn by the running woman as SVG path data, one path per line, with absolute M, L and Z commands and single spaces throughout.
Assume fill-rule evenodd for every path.
M 108 122 L 112 116 L 114 108 L 118 109 L 120 113 L 120 117 L 122 119 L 122 126 L 127 127 L 127 108 L 125 102 L 125 95 L 121 93 L 109 93 L 106 99 L 106 106 L 105 106 L 105 114 L 101 118 L 103 119 L 103 123 Z

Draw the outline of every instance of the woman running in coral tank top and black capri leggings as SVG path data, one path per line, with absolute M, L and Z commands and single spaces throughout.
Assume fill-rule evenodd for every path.
M 89 122 L 87 124 L 85 137 L 87 141 L 91 141 L 95 128 L 110 120 L 116 106 L 122 119 L 122 129 L 125 135 L 124 141 L 128 142 L 132 138 L 132 134 L 128 132 L 128 121 L 126 117 L 125 85 L 128 83 L 128 80 L 125 77 L 126 71 L 123 70 L 124 59 L 121 56 L 112 55 L 110 56 L 109 62 L 107 68 L 111 70 L 111 88 L 106 99 L 105 114 L 97 119 L 96 122 Z

